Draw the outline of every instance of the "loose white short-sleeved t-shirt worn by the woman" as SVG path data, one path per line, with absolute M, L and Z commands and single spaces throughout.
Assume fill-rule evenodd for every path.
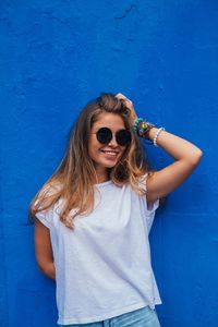
M 145 195 L 111 181 L 94 189 L 95 209 L 76 216 L 75 230 L 59 219 L 61 201 L 36 214 L 50 230 L 61 325 L 105 320 L 161 303 L 148 242 L 159 201 L 147 208 Z

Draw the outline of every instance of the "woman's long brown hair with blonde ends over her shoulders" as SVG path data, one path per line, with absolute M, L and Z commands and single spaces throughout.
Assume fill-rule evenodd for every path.
M 136 192 L 143 192 L 138 178 L 148 171 L 148 166 L 144 148 L 131 125 L 130 109 L 113 94 L 101 93 L 81 111 L 72 128 L 63 159 L 32 199 L 31 219 L 38 211 L 48 209 L 61 198 L 64 198 L 64 205 L 60 213 L 60 220 L 66 227 L 73 228 L 72 221 L 75 216 L 92 213 L 96 171 L 88 155 L 88 135 L 93 123 L 102 112 L 119 114 L 132 134 L 131 144 L 126 146 L 119 162 L 108 169 L 110 180 L 118 186 L 130 184 Z M 76 211 L 70 216 L 70 211 L 75 208 Z

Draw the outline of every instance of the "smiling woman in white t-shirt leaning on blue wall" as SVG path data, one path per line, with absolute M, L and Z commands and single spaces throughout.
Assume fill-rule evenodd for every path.
M 174 162 L 149 171 L 140 138 Z M 202 152 L 138 119 L 122 94 L 81 112 L 57 171 L 31 204 L 39 268 L 57 282 L 60 326 L 160 326 L 148 233 L 159 198 L 194 170 Z

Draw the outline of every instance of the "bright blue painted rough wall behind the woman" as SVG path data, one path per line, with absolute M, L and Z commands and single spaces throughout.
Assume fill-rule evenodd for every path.
M 100 92 L 198 145 L 204 159 L 159 210 L 150 243 L 164 327 L 218 326 L 218 2 L 0 3 L 0 326 L 57 324 L 35 261 L 28 204 Z M 158 169 L 172 160 L 146 146 Z

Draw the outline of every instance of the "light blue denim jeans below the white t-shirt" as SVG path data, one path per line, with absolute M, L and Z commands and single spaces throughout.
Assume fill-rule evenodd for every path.
M 145 306 L 120 316 L 90 324 L 59 325 L 61 327 L 160 327 L 156 311 Z

